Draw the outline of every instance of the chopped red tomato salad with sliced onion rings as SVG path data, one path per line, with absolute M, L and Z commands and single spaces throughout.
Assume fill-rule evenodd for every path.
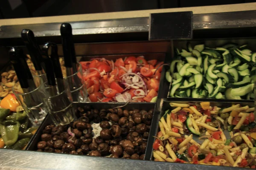
M 155 102 L 163 62 L 144 56 L 80 62 L 91 102 Z

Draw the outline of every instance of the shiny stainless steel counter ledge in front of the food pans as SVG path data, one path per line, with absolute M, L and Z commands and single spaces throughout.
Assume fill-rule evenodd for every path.
M 218 166 L 0 149 L 0 170 L 218 170 Z M 230 170 L 232 167 L 221 167 Z M 240 168 L 236 168 L 239 170 Z

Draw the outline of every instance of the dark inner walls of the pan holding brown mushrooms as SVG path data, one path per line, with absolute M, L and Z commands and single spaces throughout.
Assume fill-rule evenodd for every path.
M 97 108 L 97 109 L 108 109 L 108 108 L 115 108 L 118 106 L 123 106 L 125 103 L 98 103 L 98 102 L 87 102 L 87 103 L 73 103 L 73 107 L 83 107 L 84 105 L 90 105 L 91 108 Z M 144 109 L 145 111 L 149 111 L 150 109 L 154 109 L 153 118 L 151 121 L 151 128 L 149 131 L 149 137 L 148 142 L 146 146 L 145 151 L 145 160 L 149 160 L 151 157 L 151 147 L 153 144 L 153 140 L 151 140 L 150 136 L 154 134 L 154 129 L 152 127 L 155 127 L 156 122 L 154 121 L 157 118 L 157 107 L 154 103 L 128 103 L 122 109 L 127 109 L 128 111 L 133 109 Z M 38 128 L 35 135 L 32 137 L 32 140 L 29 142 L 28 147 L 26 150 L 37 150 L 37 143 L 41 140 L 41 135 L 43 133 L 44 127 L 47 125 L 53 124 L 52 119 L 50 118 L 49 114 L 46 116 L 40 127 Z

